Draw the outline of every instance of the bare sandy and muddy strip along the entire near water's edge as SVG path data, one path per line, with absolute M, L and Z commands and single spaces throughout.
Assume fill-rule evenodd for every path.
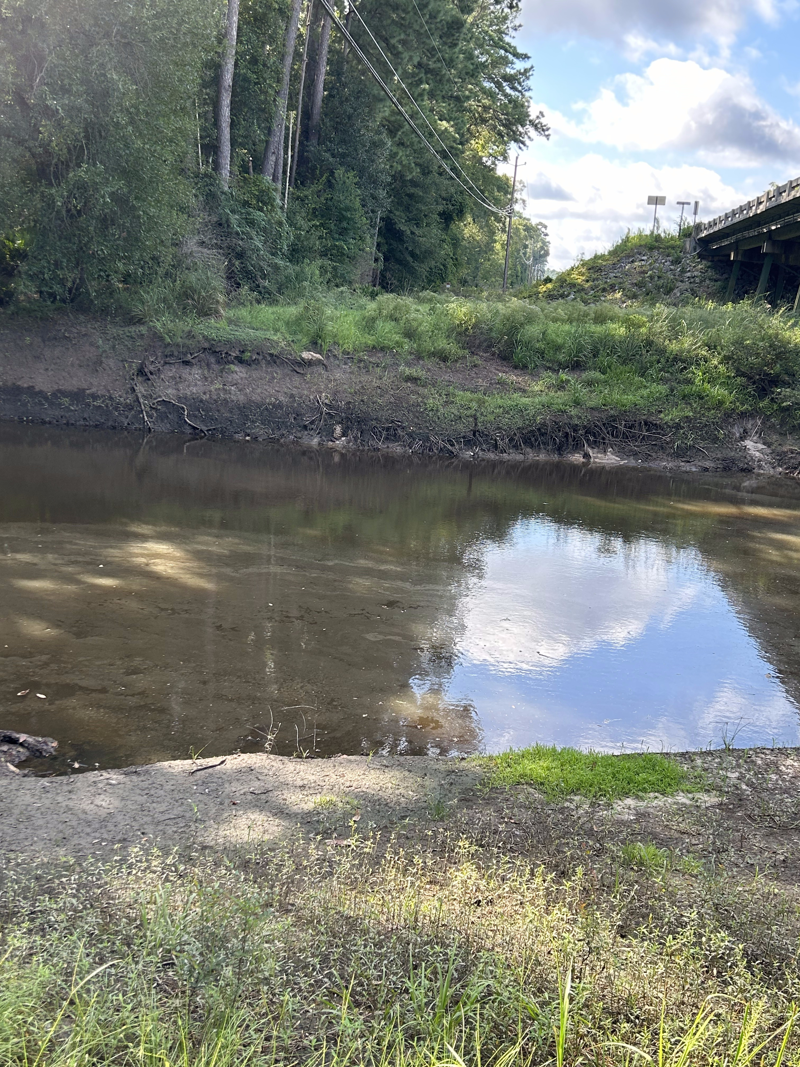
M 800 879 L 800 750 L 740 749 L 674 759 L 701 792 L 615 805 L 547 802 L 525 785 L 483 787 L 475 763 L 434 757 L 299 760 L 263 754 L 177 760 L 74 777 L 0 767 L 0 853 L 107 855 L 115 848 L 453 832 L 510 855 L 558 853 L 590 866 L 623 842 L 729 873 Z M 665 859 L 665 861 L 667 861 Z M 688 869 L 687 869 L 688 870 Z

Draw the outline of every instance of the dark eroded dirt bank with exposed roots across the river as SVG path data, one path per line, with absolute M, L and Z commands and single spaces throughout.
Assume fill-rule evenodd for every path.
M 457 364 L 335 351 L 304 362 L 278 345 L 170 346 L 144 327 L 64 315 L 0 327 L 0 418 L 342 449 L 800 472 L 795 442 L 748 420 L 732 420 L 715 444 L 708 428 L 624 413 L 500 425 L 479 412 L 487 396 L 531 377 L 510 369 L 491 352 Z

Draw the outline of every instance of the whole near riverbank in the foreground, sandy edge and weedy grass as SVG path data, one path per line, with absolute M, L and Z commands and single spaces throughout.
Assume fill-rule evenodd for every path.
M 425 758 L 0 779 L 0 1057 L 795 1062 L 800 753 L 672 761 L 682 792 L 614 801 Z M 163 846 L 130 849 L 147 783 Z M 133 832 L 37 860 L 73 816 Z

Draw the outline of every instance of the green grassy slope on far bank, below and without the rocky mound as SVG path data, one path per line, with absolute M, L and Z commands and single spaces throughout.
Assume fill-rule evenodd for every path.
M 700 426 L 700 439 L 714 442 L 730 416 L 766 416 L 789 428 L 800 410 L 800 328 L 764 305 L 620 308 L 565 300 L 334 294 L 163 329 L 173 340 L 183 331 L 188 338 L 245 351 L 269 339 L 345 355 L 390 351 L 409 362 L 458 363 L 486 351 L 505 359 L 509 373 L 480 392 L 429 389 L 428 412 L 438 432 L 463 432 L 476 417 L 481 428 L 511 435 L 554 416 L 587 425 L 623 416 L 668 428 Z M 425 384 L 423 370 L 406 371 L 414 376 Z

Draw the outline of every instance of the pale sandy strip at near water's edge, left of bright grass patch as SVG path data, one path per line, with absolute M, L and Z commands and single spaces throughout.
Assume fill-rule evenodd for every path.
M 476 767 L 434 757 L 228 755 L 28 778 L 0 767 L 0 855 L 326 839 L 397 827 L 467 793 Z M 355 819 L 353 824 L 352 821 Z

